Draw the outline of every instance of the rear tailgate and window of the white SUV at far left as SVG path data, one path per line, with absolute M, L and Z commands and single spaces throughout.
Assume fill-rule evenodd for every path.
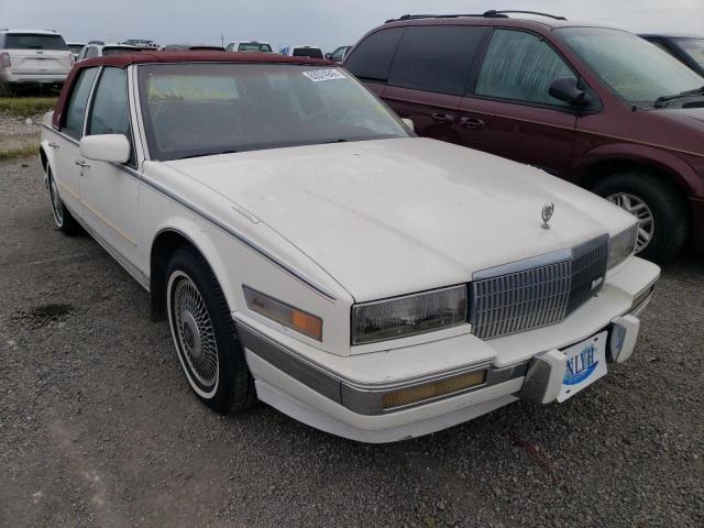
M 8 33 L 4 41 L 13 74 L 66 75 L 73 66 L 70 50 L 61 35 Z

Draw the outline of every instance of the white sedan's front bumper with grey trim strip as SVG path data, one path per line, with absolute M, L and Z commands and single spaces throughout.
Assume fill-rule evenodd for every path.
M 240 312 L 234 319 L 260 399 L 328 432 L 388 442 L 451 427 L 519 397 L 553 400 L 564 376 L 559 350 L 620 324 L 628 316 L 620 355 L 610 358 L 625 361 L 638 334 L 638 319 L 630 314 L 645 309 L 658 276 L 657 266 L 632 258 L 561 323 L 491 341 L 465 334 L 344 358 L 307 350 Z M 422 369 L 411 373 L 409 365 L 418 355 L 425 360 Z M 463 364 L 458 358 L 464 358 Z M 482 371 L 485 375 L 477 385 L 413 405 L 384 407 L 385 396 L 395 392 Z

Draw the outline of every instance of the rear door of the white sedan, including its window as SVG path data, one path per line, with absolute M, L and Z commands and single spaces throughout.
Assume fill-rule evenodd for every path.
M 61 133 L 54 134 L 53 141 L 50 143 L 50 146 L 55 151 L 56 165 L 54 168 L 56 174 L 54 174 L 54 178 L 58 186 L 58 194 L 72 215 L 77 218 L 82 218 L 78 185 L 81 167 L 76 164 L 80 160 L 78 142 L 84 133 L 88 97 L 97 74 L 98 68 L 86 68 L 78 74 L 64 114 L 61 116 Z

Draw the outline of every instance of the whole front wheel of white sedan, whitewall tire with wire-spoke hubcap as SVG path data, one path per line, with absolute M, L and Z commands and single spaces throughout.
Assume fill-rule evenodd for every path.
M 254 381 L 228 302 L 193 248 L 182 248 L 168 263 L 166 308 L 176 354 L 198 398 L 222 415 L 254 405 Z

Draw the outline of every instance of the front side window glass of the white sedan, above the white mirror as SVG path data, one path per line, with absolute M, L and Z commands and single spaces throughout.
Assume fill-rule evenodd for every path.
M 123 134 L 132 144 L 127 72 L 106 67 L 98 79 L 88 117 L 87 135 Z M 134 154 L 130 154 L 130 162 Z

